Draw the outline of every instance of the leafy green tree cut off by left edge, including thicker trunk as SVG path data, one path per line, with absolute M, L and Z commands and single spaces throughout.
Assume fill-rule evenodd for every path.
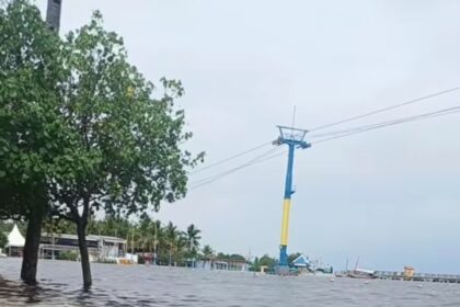
M 48 179 L 66 137 L 61 42 L 26 0 L 0 8 L 0 214 L 27 220 L 21 277 L 35 283 Z

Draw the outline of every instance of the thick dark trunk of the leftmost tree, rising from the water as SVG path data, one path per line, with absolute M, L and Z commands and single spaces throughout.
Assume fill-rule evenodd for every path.
M 36 284 L 39 240 L 42 238 L 42 221 L 44 208 L 36 204 L 28 213 L 27 232 L 22 259 L 21 278 L 26 284 Z

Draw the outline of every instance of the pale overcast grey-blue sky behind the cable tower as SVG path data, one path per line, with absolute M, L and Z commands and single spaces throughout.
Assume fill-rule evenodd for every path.
M 296 126 L 311 128 L 460 86 L 459 1 L 62 2 L 61 33 L 99 9 L 148 79 L 183 81 L 188 148 L 205 150 L 206 163 L 275 139 L 294 105 Z M 334 128 L 459 100 L 453 92 Z M 298 150 L 288 250 L 340 270 L 359 255 L 368 269 L 460 273 L 459 123 L 450 115 Z M 278 257 L 286 158 L 192 190 L 159 217 L 196 224 L 217 251 Z

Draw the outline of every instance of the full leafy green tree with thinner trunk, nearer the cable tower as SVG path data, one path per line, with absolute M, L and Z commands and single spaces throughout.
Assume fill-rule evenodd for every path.
M 76 223 L 83 284 L 92 284 L 87 226 L 96 211 L 129 216 L 162 201 L 185 196 L 186 168 L 193 157 L 182 149 L 192 134 L 183 130 L 180 81 L 162 79 L 164 94 L 127 61 L 123 39 L 106 32 L 94 13 L 89 25 L 69 33 L 64 49 L 68 78 L 60 100 L 67 127 L 50 194 L 54 214 Z

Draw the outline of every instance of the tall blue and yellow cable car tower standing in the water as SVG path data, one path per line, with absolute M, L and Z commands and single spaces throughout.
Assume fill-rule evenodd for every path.
M 278 274 L 289 273 L 289 263 L 287 254 L 288 231 L 289 231 L 289 212 L 290 212 L 290 197 L 295 193 L 292 189 L 292 169 L 294 169 L 294 152 L 296 149 L 306 149 L 311 146 L 304 141 L 308 130 L 297 129 L 294 127 L 278 126 L 279 138 L 275 141 L 276 145 L 288 146 L 288 164 L 286 172 L 285 197 L 283 203 L 283 219 L 281 219 L 281 243 L 279 247 L 279 265 L 277 268 Z

